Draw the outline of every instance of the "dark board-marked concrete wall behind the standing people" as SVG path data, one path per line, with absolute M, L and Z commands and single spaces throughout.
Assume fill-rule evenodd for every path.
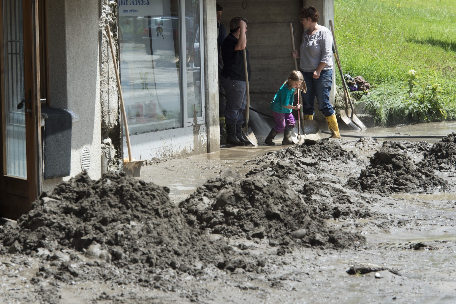
M 222 23 L 229 32 L 229 21 L 236 16 L 247 18 L 247 48 L 252 76 L 250 105 L 269 113 L 269 104 L 288 73 L 295 68 L 291 59 L 290 23 L 293 24 L 295 48 L 299 48 L 303 28 L 298 13 L 304 6 L 316 6 L 321 21 L 329 28 L 334 15 L 333 0 L 217 0 L 223 6 Z M 244 1 L 245 6 L 245 1 Z M 329 17 L 329 18 L 328 18 Z M 299 62 L 298 62 L 299 64 Z M 333 97 L 332 97 L 333 100 Z M 319 112 L 316 110 L 316 112 Z

